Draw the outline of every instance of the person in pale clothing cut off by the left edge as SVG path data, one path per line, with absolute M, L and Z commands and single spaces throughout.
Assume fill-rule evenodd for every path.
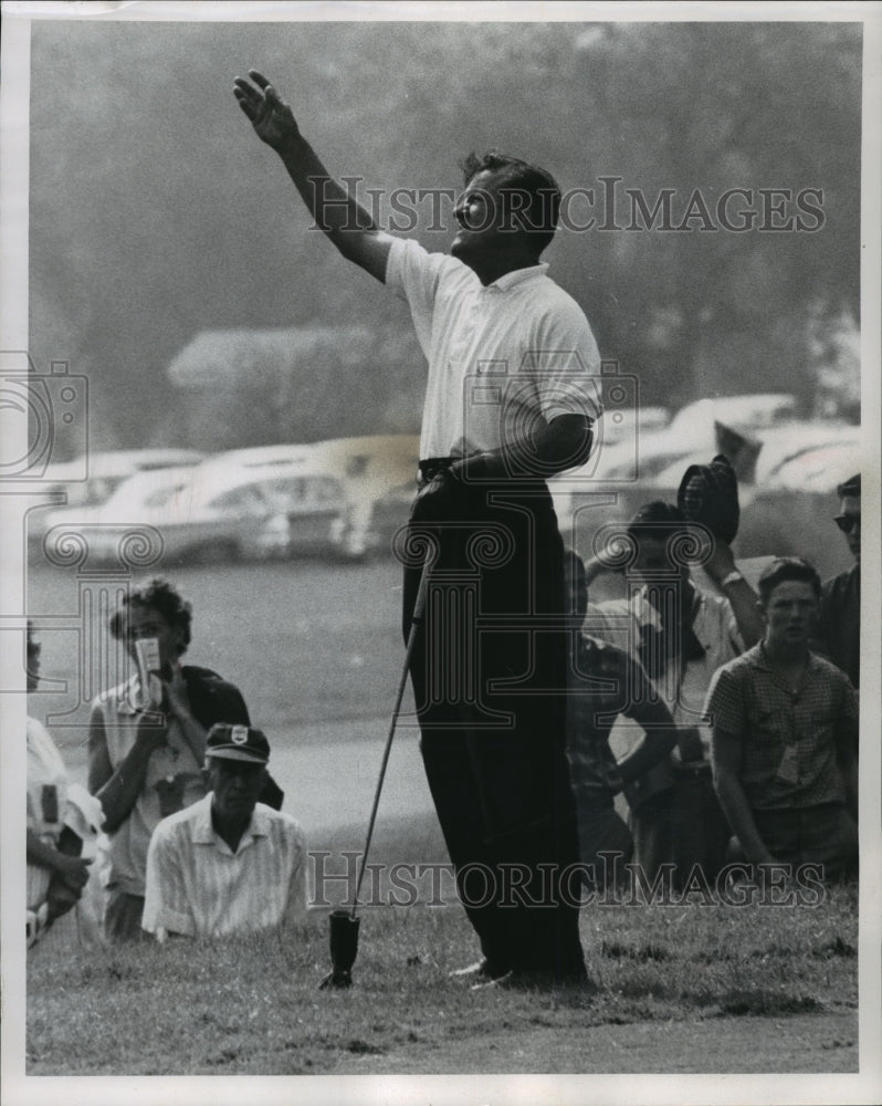
M 41 644 L 28 623 L 28 691 L 40 680 Z M 84 841 L 94 841 L 101 804 L 71 783 L 64 761 L 46 728 L 27 720 L 28 733 L 28 946 L 80 901 L 92 859 Z

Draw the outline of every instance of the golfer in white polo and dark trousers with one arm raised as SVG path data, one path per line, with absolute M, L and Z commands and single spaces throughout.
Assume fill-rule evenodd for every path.
M 411 660 L 429 786 L 477 932 L 480 982 L 585 979 L 565 757 L 563 543 L 545 478 L 584 463 L 597 345 L 539 262 L 560 192 L 540 168 L 471 155 L 451 254 L 382 232 L 333 179 L 269 81 L 234 93 L 343 257 L 409 306 L 429 363 L 419 492 L 431 550 Z M 422 565 L 405 570 L 405 627 Z

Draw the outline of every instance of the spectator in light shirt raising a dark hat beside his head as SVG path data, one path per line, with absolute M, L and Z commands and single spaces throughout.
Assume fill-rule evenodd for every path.
M 586 626 L 640 660 L 676 723 L 670 771 L 639 778 L 627 797 L 637 862 L 649 879 L 673 865 L 680 887 L 695 865 L 713 883 L 725 864 L 729 831 L 713 790 L 703 705 L 713 674 L 757 640 L 762 626 L 754 592 L 722 538 L 704 570 L 725 594 L 695 587 L 686 560 L 675 557 L 678 542 L 690 539 L 687 528 L 673 504 L 640 508 L 627 528 L 636 554 L 629 575 L 639 586 L 628 599 L 589 604 Z M 602 568 L 596 559 L 588 563 L 589 585 Z

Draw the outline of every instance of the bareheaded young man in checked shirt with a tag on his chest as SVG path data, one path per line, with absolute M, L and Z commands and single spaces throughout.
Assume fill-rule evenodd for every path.
M 714 786 L 750 864 L 821 864 L 827 877 L 858 859 L 858 696 L 809 650 L 821 583 L 798 557 L 759 577 L 763 640 L 715 675 Z

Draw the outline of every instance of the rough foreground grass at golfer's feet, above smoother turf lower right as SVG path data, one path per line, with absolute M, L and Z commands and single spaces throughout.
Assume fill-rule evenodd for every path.
M 589 907 L 584 943 L 596 987 L 547 991 L 471 991 L 450 980 L 475 952 L 458 906 L 366 909 L 349 991 L 317 990 L 329 967 L 318 911 L 286 945 L 250 937 L 99 949 L 66 963 L 34 957 L 28 1072 L 333 1074 L 364 1056 L 419 1073 L 445 1054 L 455 1072 L 459 1047 L 501 1030 L 515 1039 L 853 1011 L 857 927 L 848 888 L 817 907 Z M 568 1063 L 580 1070 L 578 1054 Z

